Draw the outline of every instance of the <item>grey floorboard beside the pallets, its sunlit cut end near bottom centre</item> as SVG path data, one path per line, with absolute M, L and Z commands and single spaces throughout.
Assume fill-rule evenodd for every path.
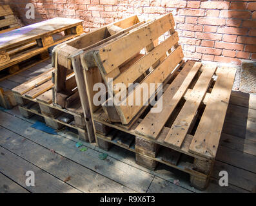
M 92 169 L 115 182 L 121 183 L 134 191 L 146 192 L 153 180 L 153 175 L 124 164 L 112 157 L 108 157 L 108 160 L 99 162 L 99 154 L 101 153 L 90 148 L 88 148 L 86 153 L 81 153 L 75 147 L 75 141 L 63 138 L 59 135 L 48 135 L 43 131 L 35 130 L 30 127 L 32 125 L 30 122 L 13 117 L 3 111 L 0 111 L 0 125 L 8 127 L 8 129 L 14 131 L 18 135 L 26 136 L 26 138 L 48 149 L 53 149 L 56 153 L 59 153 L 66 158 L 70 158 L 74 162 L 77 162 L 88 169 Z M 19 125 L 19 127 L 17 127 L 17 125 Z M 63 147 L 63 144 L 65 147 Z M 130 171 L 130 173 L 128 174 L 127 171 Z M 131 178 L 131 176 L 133 178 Z

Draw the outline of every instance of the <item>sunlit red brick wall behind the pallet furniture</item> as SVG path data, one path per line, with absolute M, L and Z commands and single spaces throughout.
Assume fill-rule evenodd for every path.
M 172 12 L 185 57 L 241 64 L 256 60 L 256 0 L 2 0 L 25 24 L 53 17 L 84 19 L 86 32 L 117 19 Z M 36 18 L 25 18 L 26 3 L 34 3 Z

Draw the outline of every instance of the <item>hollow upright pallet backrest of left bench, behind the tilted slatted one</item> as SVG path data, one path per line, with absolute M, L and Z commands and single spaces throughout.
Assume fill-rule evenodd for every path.
M 107 42 L 121 35 L 122 33 L 127 32 L 128 30 L 132 30 L 136 26 L 139 26 L 143 23 L 143 17 L 133 15 L 131 17 L 127 17 L 126 19 L 121 19 L 117 22 L 108 24 L 103 28 L 99 28 L 95 31 L 84 33 L 79 37 L 56 46 L 52 55 L 52 64 L 55 67 L 55 104 L 63 106 L 65 104 L 63 99 L 69 95 L 72 95 L 72 93 L 77 92 L 78 88 L 76 88 L 77 80 L 75 80 L 75 76 L 71 74 L 69 79 L 66 78 L 67 75 L 70 75 L 70 72 L 73 72 L 72 57 L 78 56 L 78 61 L 81 62 L 80 53 L 85 53 L 95 46 L 99 46 L 104 42 Z M 90 72 L 90 79 L 93 80 L 92 84 L 102 82 L 99 71 Z M 69 88 L 67 88 L 67 85 Z M 66 91 L 66 94 L 62 93 L 58 96 L 58 93 L 63 91 Z

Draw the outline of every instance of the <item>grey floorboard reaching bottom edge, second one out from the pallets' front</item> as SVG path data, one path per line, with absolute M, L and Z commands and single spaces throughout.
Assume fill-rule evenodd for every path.
M 0 126 L 0 145 L 82 192 L 134 192 Z M 8 137 L 7 137 L 8 136 Z M 95 179 L 97 178 L 97 181 Z M 47 192 L 47 191 L 46 191 Z

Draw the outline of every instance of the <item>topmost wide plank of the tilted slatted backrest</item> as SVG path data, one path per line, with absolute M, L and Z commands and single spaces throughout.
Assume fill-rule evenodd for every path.
M 95 52 L 95 57 L 99 60 L 99 68 L 104 74 L 110 73 L 172 27 L 173 17 L 170 13 L 137 30 L 132 30 L 117 41 L 103 45 L 99 51 Z M 118 58 L 110 58 L 115 55 L 118 55 Z

